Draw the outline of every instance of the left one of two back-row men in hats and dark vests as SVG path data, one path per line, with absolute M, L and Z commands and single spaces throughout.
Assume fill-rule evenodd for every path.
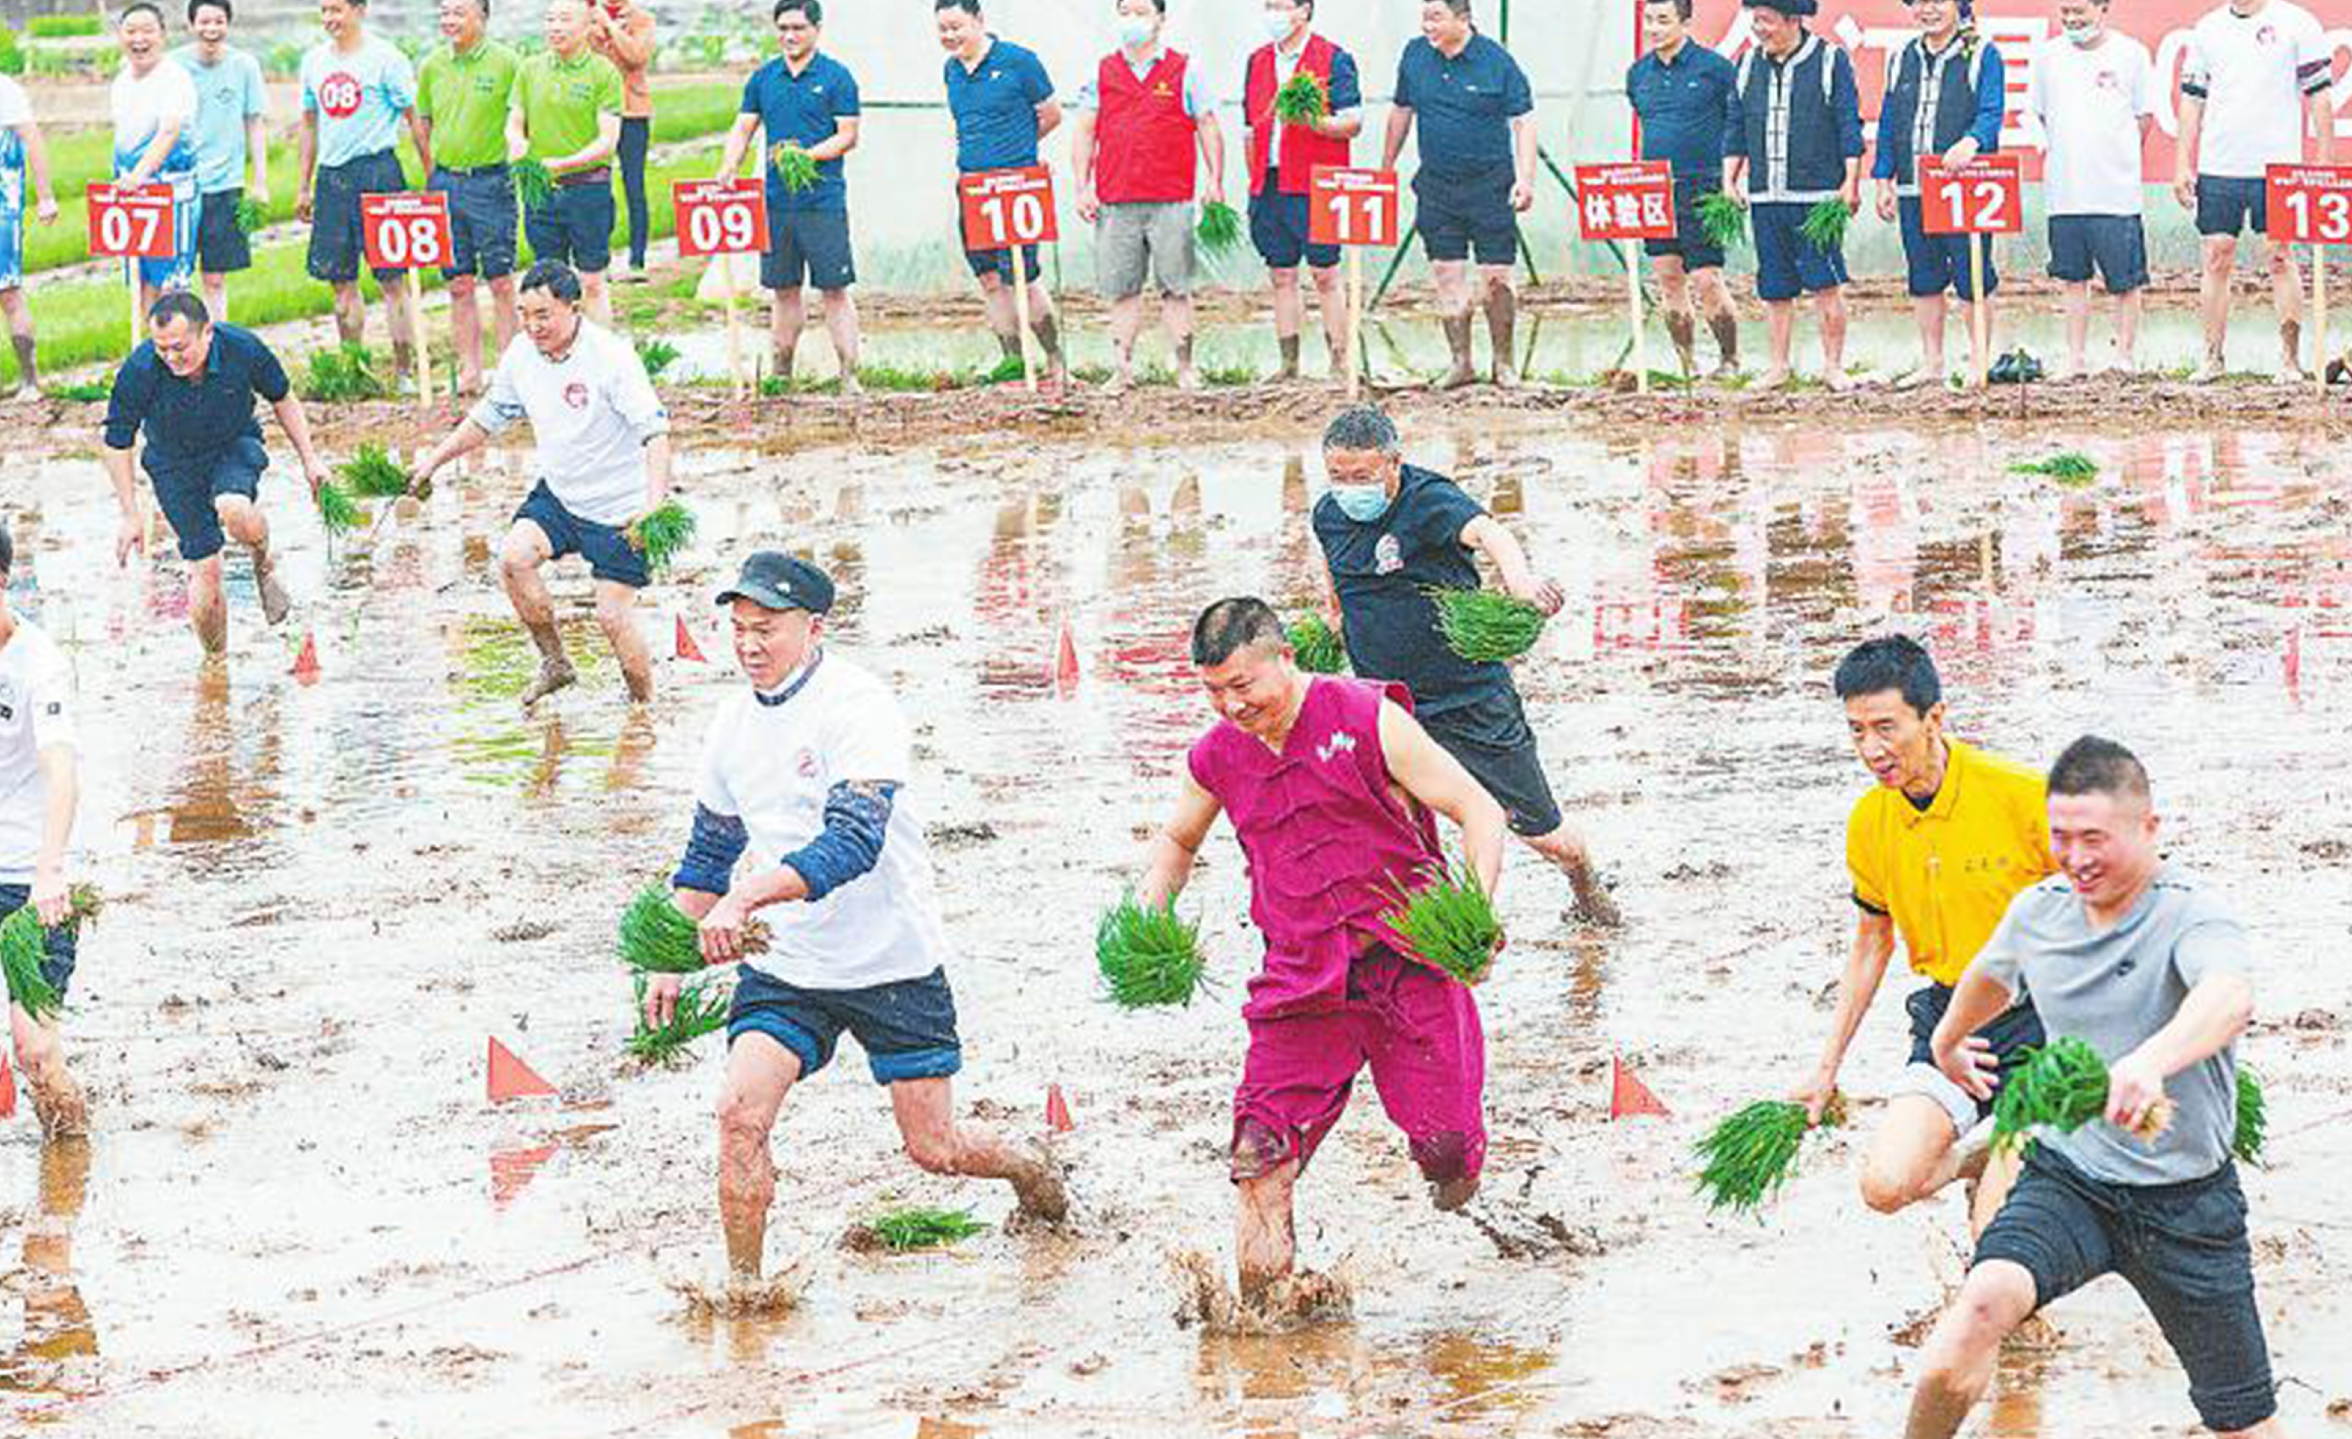
M 1863 193 L 1863 111 L 1853 59 L 1804 28 L 1813 0 L 1748 0 L 1755 47 L 1731 87 L 1724 136 L 1724 193 L 1755 219 L 1757 299 L 1771 334 L 1771 367 L 1759 388 L 1790 379 L 1797 296 L 1820 317 L 1820 383 L 1846 388 L 1846 254 L 1802 235 L 1823 202 L 1849 212 Z

